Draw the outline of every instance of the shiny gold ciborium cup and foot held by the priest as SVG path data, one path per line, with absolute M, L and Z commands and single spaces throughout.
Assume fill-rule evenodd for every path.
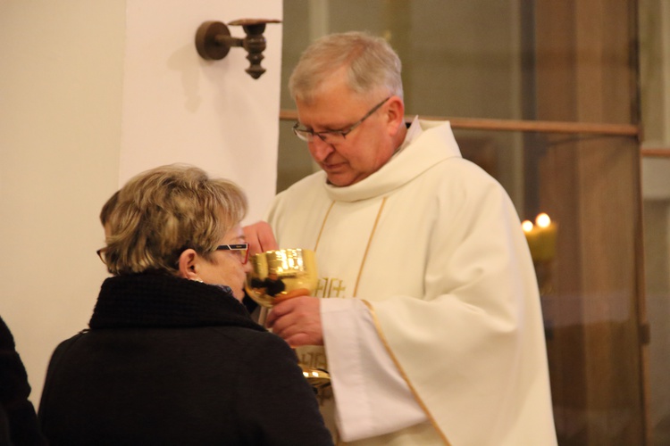
M 319 281 L 314 251 L 283 249 L 255 254 L 249 259 L 251 272 L 247 275 L 247 294 L 263 310 L 258 323 L 264 325 L 267 309 L 297 296 L 314 295 Z M 319 390 L 331 384 L 331 376 L 321 368 L 299 364 L 303 376 Z

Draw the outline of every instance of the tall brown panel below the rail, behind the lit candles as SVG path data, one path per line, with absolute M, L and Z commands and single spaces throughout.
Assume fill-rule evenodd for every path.
M 467 156 L 466 136 L 456 132 Z M 640 198 L 634 187 L 622 187 L 638 178 L 637 141 L 530 133 L 518 139 L 520 215 L 534 220 L 546 212 L 557 227 L 556 246 L 549 249 L 549 237 L 533 251 L 559 444 L 643 444 Z M 492 153 L 502 158 L 507 148 Z

